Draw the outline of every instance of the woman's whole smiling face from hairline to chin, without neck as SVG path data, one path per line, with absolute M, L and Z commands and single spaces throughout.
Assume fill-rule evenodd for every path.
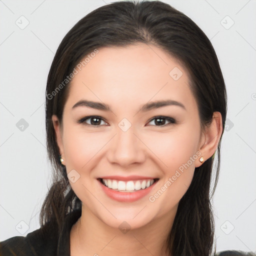
M 112 227 L 126 221 L 136 228 L 174 216 L 201 164 L 203 144 L 186 70 L 162 49 L 146 44 L 99 48 L 76 70 L 62 125 L 55 130 L 83 209 Z M 85 100 L 95 103 L 89 106 Z M 168 104 L 150 106 L 156 101 Z M 110 179 L 109 186 L 132 189 L 132 182 L 138 190 L 113 191 L 102 177 Z M 150 179 L 156 182 L 139 190 Z

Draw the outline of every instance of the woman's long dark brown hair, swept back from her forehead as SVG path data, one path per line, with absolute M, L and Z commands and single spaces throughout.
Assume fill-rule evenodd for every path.
M 201 125 L 208 125 L 213 112 L 219 111 L 224 130 L 226 90 L 218 59 L 207 36 L 189 17 L 160 1 L 119 1 L 91 11 L 62 39 L 47 78 L 45 124 L 48 157 L 54 171 L 52 185 L 41 207 L 41 226 L 55 221 L 61 230 L 65 215 L 81 208 L 81 201 L 68 182 L 65 166 L 60 164 L 51 120 L 53 114 L 60 122 L 62 119 L 69 88 L 69 82 L 63 85 L 63 81 L 77 63 L 95 49 L 136 43 L 156 45 L 178 59 L 188 70 Z M 59 89 L 61 83 L 63 86 Z M 212 251 L 211 197 L 219 173 L 220 141 L 214 159 L 215 175 L 213 157 L 195 168 L 191 184 L 179 201 L 166 241 L 172 256 L 208 256 Z M 211 180 L 214 184 L 212 191 Z

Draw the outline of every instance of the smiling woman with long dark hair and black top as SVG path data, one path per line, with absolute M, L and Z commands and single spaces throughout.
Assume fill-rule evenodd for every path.
M 160 1 L 90 12 L 56 51 L 45 112 L 54 172 L 41 228 L 0 255 L 215 253 L 226 90 L 190 18 Z

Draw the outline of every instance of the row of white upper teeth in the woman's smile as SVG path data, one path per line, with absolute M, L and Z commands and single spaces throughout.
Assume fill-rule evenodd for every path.
M 144 179 L 144 180 L 115 180 L 115 179 L 102 179 L 103 183 L 108 187 L 114 190 L 119 191 L 135 191 L 140 189 L 145 189 L 153 184 L 153 179 Z

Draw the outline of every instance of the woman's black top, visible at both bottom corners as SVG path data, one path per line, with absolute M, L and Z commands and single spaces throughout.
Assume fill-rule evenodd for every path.
M 70 256 L 70 230 L 81 216 L 81 210 L 67 214 L 60 234 L 56 223 L 47 223 L 24 236 L 0 242 L 0 256 Z M 227 252 L 227 253 L 225 253 Z M 242 251 L 221 251 L 215 256 L 246 255 Z M 255 254 L 250 254 L 255 255 Z

